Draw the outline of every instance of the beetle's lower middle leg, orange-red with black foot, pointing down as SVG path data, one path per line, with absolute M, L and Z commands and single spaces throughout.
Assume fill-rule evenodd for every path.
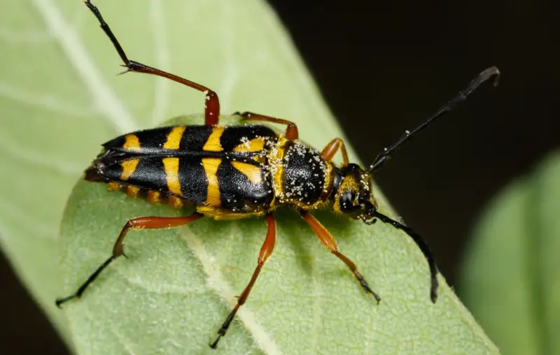
M 276 244 L 276 222 L 274 221 L 274 215 L 272 215 L 272 213 L 267 215 L 266 219 L 268 224 L 267 238 L 265 238 L 265 242 L 262 243 L 262 247 L 260 247 L 260 253 L 258 254 L 258 259 L 257 259 L 257 268 L 255 268 L 255 271 L 253 272 L 251 281 L 249 281 L 249 283 L 243 290 L 241 296 L 237 298 L 237 305 L 235 305 L 235 307 L 233 308 L 232 312 L 230 312 L 228 317 L 225 318 L 222 327 L 218 331 L 218 338 L 216 338 L 216 340 L 214 340 L 214 342 L 210 344 L 210 347 L 212 349 L 216 349 L 216 347 L 218 347 L 218 342 L 220 341 L 220 338 L 222 338 L 225 335 L 225 332 L 228 331 L 228 328 L 230 328 L 230 324 L 232 323 L 232 320 L 235 317 L 237 310 L 239 310 L 239 307 L 241 307 L 241 305 L 245 303 L 245 301 L 249 296 L 249 293 L 251 293 L 253 284 L 255 284 L 258 274 L 260 273 L 260 269 L 262 268 L 263 265 L 265 265 L 265 262 L 267 261 L 269 256 L 272 255 L 272 251 L 274 250 L 274 245 Z

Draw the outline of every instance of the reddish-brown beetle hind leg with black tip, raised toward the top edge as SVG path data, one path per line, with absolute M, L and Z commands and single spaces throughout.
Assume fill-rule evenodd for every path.
M 120 55 L 120 59 L 123 59 L 123 62 L 125 63 L 123 66 L 127 68 L 127 70 L 123 73 L 135 71 L 137 73 L 152 74 L 160 76 L 162 78 L 173 80 L 174 82 L 179 82 L 180 84 L 187 85 L 188 87 L 192 87 L 193 89 L 196 89 L 200 92 L 204 92 L 204 124 L 206 124 L 207 126 L 218 124 L 218 117 L 220 115 L 220 100 L 218 99 L 218 94 L 216 94 L 216 92 L 207 87 L 204 87 L 203 85 L 197 84 L 196 82 L 187 80 L 185 78 L 181 78 L 177 75 L 161 71 L 157 68 L 152 68 L 151 66 L 141 64 L 138 61 L 129 60 L 125 53 L 125 50 L 123 50 L 123 47 L 121 47 L 120 43 L 118 43 L 116 36 L 113 34 L 113 31 L 111 31 L 109 24 L 107 24 L 107 22 L 105 22 L 105 20 L 103 19 L 101 13 L 99 12 L 99 9 L 94 6 L 90 0 L 86 0 L 85 5 L 92 11 L 95 17 L 97 17 L 97 20 L 99 20 L 99 24 L 101 24 L 101 28 L 103 29 L 103 31 L 105 31 L 105 34 L 109 36 L 111 43 L 113 43 L 113 46 L 115 46 L 115 49 L 118 52 L 118 55 Z

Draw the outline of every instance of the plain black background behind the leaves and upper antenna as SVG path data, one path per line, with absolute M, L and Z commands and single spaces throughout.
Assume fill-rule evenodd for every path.
M 453 285 L 486 201 L 560 145 L 552 1 L 270 2 L 365 164 L 484 68 L 502 71 L 497 89 L 484 85 L 375 177 Z M 6 261 L 0 270 L 1 348 L 64 354 Z

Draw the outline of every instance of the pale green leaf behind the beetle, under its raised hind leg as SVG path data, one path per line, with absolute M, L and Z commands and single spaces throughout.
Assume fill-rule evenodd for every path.
M 224 112 L 299 117 L 302 129 L 317 132 L 315 143 L 339 133 L 262 1 L 97 5 L 132 59 L 216 89 Z M 200 113 L 204 96 L 161 78 L 115 75 L 120 59 L 82 1 L 2 1 L 0 23 L 0 166 L 9 172 L 0 176 L 0 244 L 71 344 L 53 300 L 62 291 L 57 234 L 73 184 L 99 143 Z

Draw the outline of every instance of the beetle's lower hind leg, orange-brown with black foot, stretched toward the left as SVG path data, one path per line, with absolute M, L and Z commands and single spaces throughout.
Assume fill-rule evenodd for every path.
M 58 298 L 56 300 L 57 306 L 60 307 L 62 303 L 66 303 L 66 301 L 71 300 L 73 298 L 80 298 L 80 296 L 82 296 L 85 289 L 87 289 L 87 287 L 90 286 L 90 284 L 94 282 L 95 279 L 97 279 L 97 276 L 99 276 L 99 274 L 107 266 L 109 266 L 111 261 L 117 259 L 121 255 L 125 255 L 125 253 L 123 252 L 123 240 L 125 240 L 125 236 L 127 235 L 127 232 L 130 229 L 174 228 L 178 226 L 183 226 L 185 224 L 189 224 L 190 222 L 194 222 L 200 217 L 204 217 L 204 215 L 195 212 L 193 213 L 193 215 L 186 216 L 186 217 L 137 217 L 137 218 L 130 219 L 123 227 L 123 230 L 120 231 L 120 234 L 115 242 L 115 245 L 113 246 L 113 255 L 111 255 L 111 257 L 107 259 L 104 263 L 102 263 L 101 266 L 99 266 L 99 268 L 97 268 L 97 270 L 95 270 L 94 273 L 90 275 L 90 277 L 87 277 L 87 280 L 85 280 L 85 282 L 80 287 L 78 287 L 78 291 L 76 291 L 75 294 L 71 294 L 70 296 L 66 296 L 64 298 Z

